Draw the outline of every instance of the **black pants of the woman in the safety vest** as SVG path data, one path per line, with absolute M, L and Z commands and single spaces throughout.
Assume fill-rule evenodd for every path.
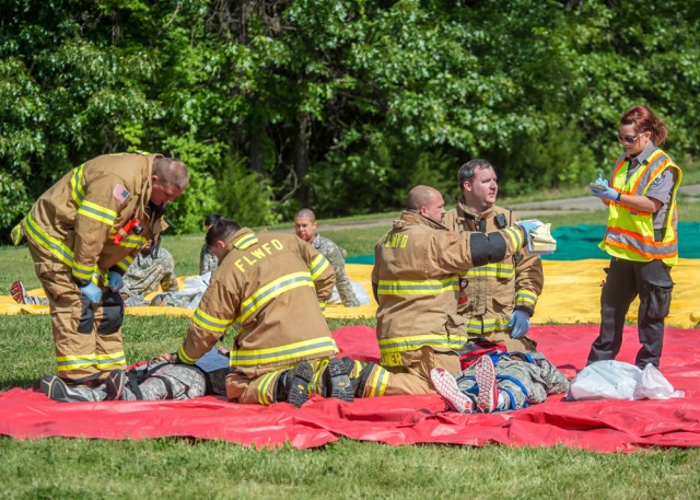
M 600 293 L 600 333 L 591 346 L 587 364 L 612 360 L 622 345 L 625 316 L 637 295 L 640 296 L 639 341 L 635 364 L 658 368 L 664 346 L 664 318 L 670 306 L 670 267 L 663 260 L 638 263 L 612 258 Z

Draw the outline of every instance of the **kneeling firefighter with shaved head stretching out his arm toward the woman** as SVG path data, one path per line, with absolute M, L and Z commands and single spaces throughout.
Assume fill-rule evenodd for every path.
M 417 186 L 406 210 L 374 249 L 372 288 L 378 303 L 381 364 L 389 373 L 383 394 L 432 394 L 430 371 L 459 371 L 467 341 L 457 314 L 459 272 L 512 256 L 537 225 L 523 222 L 490 233 L 456 233 L 442 225 L 442 195 Z

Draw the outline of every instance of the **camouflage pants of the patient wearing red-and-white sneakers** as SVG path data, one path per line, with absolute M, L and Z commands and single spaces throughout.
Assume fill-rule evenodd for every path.
M 502 356 L 495 363 L 497 384 L 506 399 L 508 409 L 521 409 L 526 404 L 536 405 L 547 400 L 549 394 L 565 393 L 569 379 L 551 364 L 541 353 L 532 352 L 534 363 L 518 357 Z M 476 395 L 474 367 L 455 374 L 459 388 L 468 395 Z

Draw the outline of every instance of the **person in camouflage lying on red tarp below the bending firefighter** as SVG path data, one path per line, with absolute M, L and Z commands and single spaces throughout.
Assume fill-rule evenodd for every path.
M 59 403 L 191 399 L 212 394 L 226 395 L 226 349 L 212 348 L 191 367 L 172 364 L 168 358 L 170 354 L 163 354 L 126 372 L 114 370 L 96 388 L 68 385 L 56 375 L 44 375 L 40 388 Z

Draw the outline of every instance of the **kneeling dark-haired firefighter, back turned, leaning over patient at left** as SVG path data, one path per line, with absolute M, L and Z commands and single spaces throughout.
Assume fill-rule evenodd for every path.
M 231 328 L 226 395 L 233 402 L 300 407 L 310 393 L 349 402 L 363 395 L 364 374 L 382 376 L 374 363 L 332 358 L 338 348 L 322 307 L 335 272 L 313 246 L 225 218 L 209 229 L 207 244 L 219 267 L 174 362 L 194 364 Z

